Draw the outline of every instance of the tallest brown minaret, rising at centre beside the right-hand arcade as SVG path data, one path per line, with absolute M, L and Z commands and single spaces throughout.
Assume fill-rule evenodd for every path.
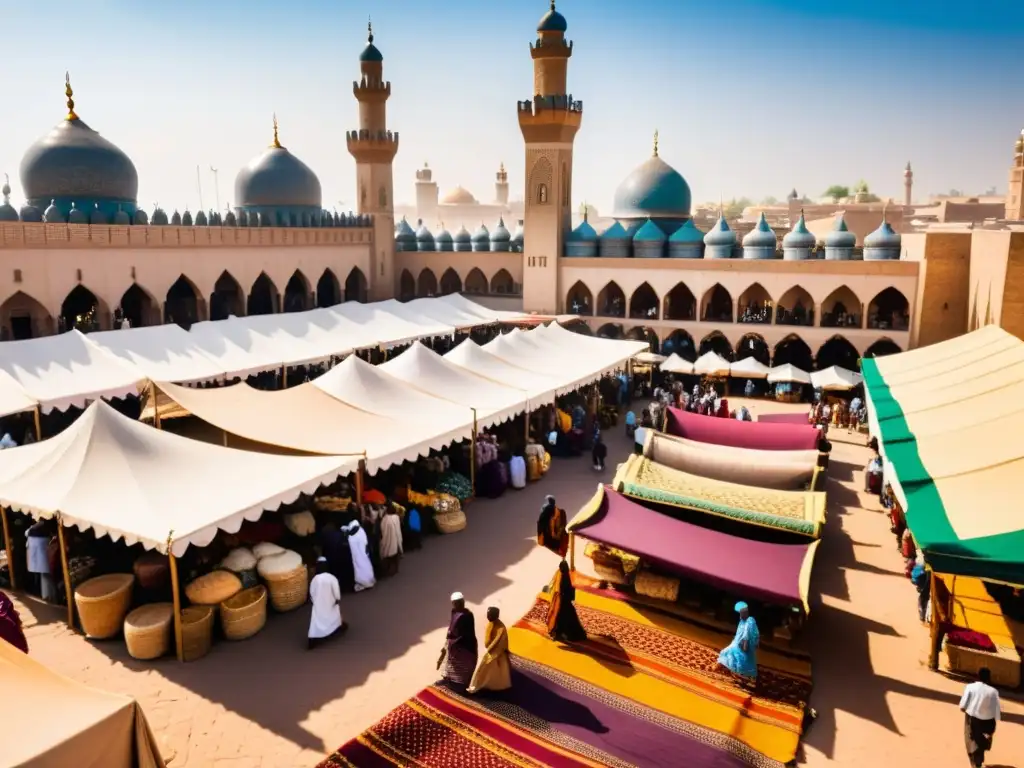
M 551 0 L 529 47 L 534 97 L 518 104 L 526 142 L 522 302 L 524 310 L 541 313 L 557 313 L 564 300 L 558 259 L 572 221 L 572 142 L 583 122 L 583 102 L 565 87 L 572 55 L 567 29 Z

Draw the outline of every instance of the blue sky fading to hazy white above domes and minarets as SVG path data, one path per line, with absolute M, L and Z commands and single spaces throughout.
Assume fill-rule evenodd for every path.
M 399 202 L 426 160 L 442 189 L 493 198 L 505 161 L 521 197 L 515 102 L 532 86 L 528 44 L 547 0 L 92 0 L 63 18 L 32 3 L 3 10 L 0 173 L 15 203 L 25 148 L 65 114 L 70 70 L 79 115 L 125 150 L 139 200 L 169 210 L 233 197 L 238 169 L 270 140 L 319 175 L 328 208 L 354 198 L 344 131 L 373 14 Z M 569 89 L 585 104 L 573 197 L 607 210 L 650 153 L 697 201 L 811 197 L 863 177 L 901 195 L 1006 188 L 1024 126 L 1019 0 L 560 0 L 575 52 Z M 946 8 L 945 10 L 943 8 Z

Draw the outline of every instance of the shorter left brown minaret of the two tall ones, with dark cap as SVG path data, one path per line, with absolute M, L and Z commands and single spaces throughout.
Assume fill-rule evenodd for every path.
M 387 100 L 391 83 L 384 80 L 384 56 L 374 45 L 374 28 L 367 25 L 367 47 L 359 54 L 359 80 L 352 92 L 359 102 L 359 129 L 347 131 L 349 154 L 355 158 L 357 211 L 373 216 L 372 274 L 367 275 L 371 300 L 395 295 L 394 274 L 394 174 L 398 132 L 387 129 Z

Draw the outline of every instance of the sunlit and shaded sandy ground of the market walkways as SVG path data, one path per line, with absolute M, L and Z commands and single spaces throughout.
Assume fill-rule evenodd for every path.
M 793 407 L 754 401 L 755 413 Z M 968 765 L 963 683 L 929 672 L 927 628 L 878 501 L 860 493 L 863 437 L 830 435 L 829 520 L 819 550 L 808 631 L 814 653 L 808 766 Z M 34 656 L 90 685 L 135 696 L 172 768 L 308 767 L 432 682 L 447 624 L 447 596 L 461 590 L 476 611 L 500 605 L 514 621 L 552 574 L 554 555 L 532 531 L 546 494 L 578 509 L 630 450 L 612 435 L 603 476 L 586 459 L 556 461 L 539 483 L 474 503 L 469 526 L 432 538 L 401 572 L 346 597 L 348 635 L 307 652 L 307 610 L 271 615 L 258 636 L 221 642 L 206 658 L 139 663 L 120 640 L 72 634 L 63 611 L 34 601 L 18 609 Z M 578 558 L 583 560 L 583 558 Z M 1024 767 L 1024 706 L 1004 703 L 991 768 Z M 682 765 L 682 764 L 681 764 Z

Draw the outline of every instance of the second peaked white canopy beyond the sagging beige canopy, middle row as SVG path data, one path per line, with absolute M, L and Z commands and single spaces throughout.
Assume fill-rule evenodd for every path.
M 423 344 L 413 344 L 381 370 L 434 397 L 476 409 L 477 427 L 501 424 L 528 407 L 527 393 L 472 374 Z

